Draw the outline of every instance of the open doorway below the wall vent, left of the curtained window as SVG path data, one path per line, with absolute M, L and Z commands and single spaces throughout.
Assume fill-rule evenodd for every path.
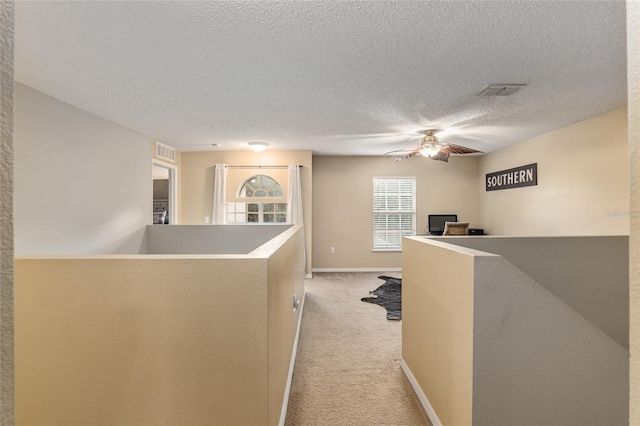
M 154 225 L 177 224 L 178 218 L 178 169 L 160 160 L 152 162 Z

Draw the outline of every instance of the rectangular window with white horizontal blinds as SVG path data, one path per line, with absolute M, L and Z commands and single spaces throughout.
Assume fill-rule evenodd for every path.
M 402 250 L 402 237 L 416 234 L 416 178 L 373 178 L 373 249 Z

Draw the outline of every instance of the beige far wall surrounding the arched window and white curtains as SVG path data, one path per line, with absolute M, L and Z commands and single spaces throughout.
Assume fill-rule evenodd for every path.
M 180 223 L 183 225 L 204 224 L 205 217 L 211 220 L 213 211 L 213 181 L 215 165 L 287 165 L 299 164 L 302 167 L 302 204 L 304 212 L 307 267 L 311 273 L 312 248 L 312 162 L 311 151 L 270 151 L 261 153 L 252 151 L 183 152 L 180 163 Z M 234 196 L 237 185 L 244 179 L 256 174 L 271 175 L 284 188 L 288 185 L 286 169 L 230 169 L 228 174 L 227 196 Z M 285 199 L 286 201 L 286 199 Z

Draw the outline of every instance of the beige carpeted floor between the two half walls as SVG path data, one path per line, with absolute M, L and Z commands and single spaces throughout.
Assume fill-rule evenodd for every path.
M 379 275 L 314 273 L 305 280 L 286 426 L 431 424 L 400 368 L 402 321 L 360 301 L 380 286 Z

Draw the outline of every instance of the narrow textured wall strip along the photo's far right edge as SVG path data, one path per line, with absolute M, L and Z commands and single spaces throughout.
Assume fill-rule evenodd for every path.
M 631 422 L 640 424 L 640 2 L 627 2 L 627 87 L 629 90 L 629 169 L 631 170 Z

